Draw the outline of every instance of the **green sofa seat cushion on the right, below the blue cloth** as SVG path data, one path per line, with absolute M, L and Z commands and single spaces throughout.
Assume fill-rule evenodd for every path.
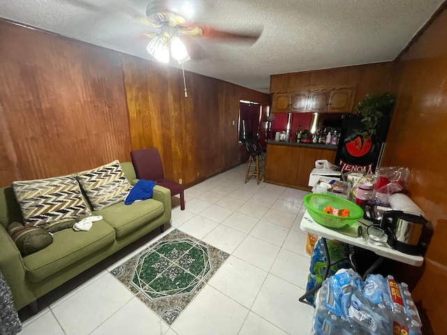
M 133 204 L 129 205 L 119 202 L 93 213 L 94 215 L 103 216 L 104 221 L 115 228 L 115 234 L 117 239 L 119 239 L 158 218 L 163 212 L 163 203 L 154 199 L 148 199 L 133 202 Z

